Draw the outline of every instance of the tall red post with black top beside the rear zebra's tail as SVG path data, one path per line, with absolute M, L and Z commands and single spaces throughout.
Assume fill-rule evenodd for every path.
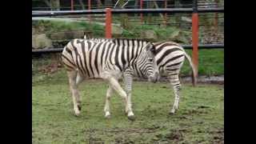
M 194 0 L 192 14 L 192 61 L 195 66 L 195 76 L 198 77 L 198 1 Z

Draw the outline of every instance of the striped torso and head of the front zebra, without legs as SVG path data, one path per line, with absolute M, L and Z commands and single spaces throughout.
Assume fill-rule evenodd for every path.
M 103 70 L 122 72 L 128 67 L 136 66 L 142 71 L 142 75 L 149 77 L 154 74 L 154 68 L 152 62 L 147 61 L 148 58 L 154 58 L 154 52 L 154 46 L 150 43 L 132 47 L 108 41 L 74 39 L 62 51 L 62 61 L 67 70 L 78 70 L 90 78 L 101 77 Z M 141 70 L 142 68 L 144 69 Z

